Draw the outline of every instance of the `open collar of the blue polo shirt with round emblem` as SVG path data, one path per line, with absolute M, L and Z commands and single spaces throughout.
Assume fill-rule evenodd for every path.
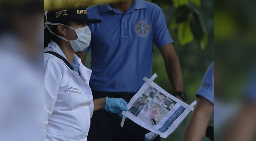
M 134 3 L 132 4 L 132 6 L 134 9 L 143 9 L 148 7 L 144 0 L 134 0 Z M 109 4 L 103 4 L 100 6 L 101 8 L 101 12 L 102 14 L 109 12 L 109 11 L 113 11 L 113 8 L 109 5 Z

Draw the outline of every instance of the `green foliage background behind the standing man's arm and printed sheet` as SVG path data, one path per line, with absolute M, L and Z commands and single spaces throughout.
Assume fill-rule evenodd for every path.
M 213 61 L 213 0 L 148 0 L 156 3 L 163 9 L 166 17 L 166 23 L 169 27 L 169 32 L 172 39 L 175 41 L 175 50 L 180 59 L 180 66 L 183 74 L 183 87 L 184 91 L 188 94 L 186 103 L 190 104 L 196 100 L 195 93 L 201 85 L 204 73 L 208 66 Z M 188 5 L 192 9 L 198 11 L 199 17 L 202 19 L 204 30 L 207 34 L 207 43 L 205 46 L 201 45 L 200 41 L 195 40 L 191 34 L 189 26 L 183 26 L 183 36 L 187 43 L 180 43 L 178 30 L 180 26 L 175 23 L 175 10 L 182 5 Z M 184 15 L 185 16 L 185 15 Z M 188 22 L 187 20 L 185 22 Z M 184 23 L 181 23 L 184 24 Z M 153 50 L 153 74 L 157 73 L 158 77 L 155 83 L 165 89 L 167 92 L 172 93 L 172 86 L 166 74 L 166 69 L 163 57 L 159 49 L 154 45 Z M 90 68 L 90 52 L 88 53 L 85 66 Z M 191 114 L 191 113 L 190 113 Z M 168 138 L 162 138 L 162 141 L 182 141 L 183 132 L 186 123 L 189 121 L 190 114 L 187 118 L 177 127 L 175 132 L 169 135 Z M 213 124 L 213 118 L 210 121 Z M 203 141 L 209 141 L 204 138 Z

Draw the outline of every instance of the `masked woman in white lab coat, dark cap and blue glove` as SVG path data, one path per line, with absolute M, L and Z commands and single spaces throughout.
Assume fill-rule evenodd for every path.
M 44 140 L 87 141 L 93 111 L 121 115 L 127 110 L 122 98 L 93 100 L 92 71 L 75 54 L 90 44 L 88 23 L 101 21 L 89 19 L 84 8 L 46 11 L 45 15 L 49 44 L 44 49 Z

